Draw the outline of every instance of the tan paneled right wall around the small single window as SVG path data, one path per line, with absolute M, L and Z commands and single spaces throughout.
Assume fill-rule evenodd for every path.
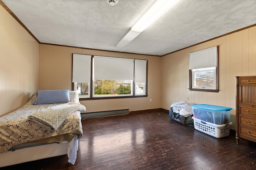
M 218 93 L 190 91 L 188 54 L 219 45 Z M 256 27 L 202 43 L 162 57 L 162 108 L 170 109 L 173 102 L 211 104 L 232 107 L 230 121 L 236 124 L 235 76 L 256 75 Z

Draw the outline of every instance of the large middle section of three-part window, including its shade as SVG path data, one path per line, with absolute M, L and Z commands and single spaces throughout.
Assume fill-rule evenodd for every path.
M 94 56 L 93 97 L 131 96 L 134 59 Z

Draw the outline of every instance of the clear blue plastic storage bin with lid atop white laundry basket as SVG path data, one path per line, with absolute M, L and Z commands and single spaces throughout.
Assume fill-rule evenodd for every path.
M 232 108 L 223 106 L 214 106 L 208 104 L 191 105 L 193 115 L 196 119 L 223 125 L 230 122 L 230 112 Z

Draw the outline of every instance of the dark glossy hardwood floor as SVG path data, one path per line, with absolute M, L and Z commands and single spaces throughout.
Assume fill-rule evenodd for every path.
M 77 160 L 67 155 L 0 170 L 255 170 L 256 143 L 216 139 L 154 111 L 82 120 Z

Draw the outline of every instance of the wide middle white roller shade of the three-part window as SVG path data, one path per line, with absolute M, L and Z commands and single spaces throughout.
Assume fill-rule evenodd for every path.
M 134 59 L 94 56 L 94 80 L 133 80 Z

